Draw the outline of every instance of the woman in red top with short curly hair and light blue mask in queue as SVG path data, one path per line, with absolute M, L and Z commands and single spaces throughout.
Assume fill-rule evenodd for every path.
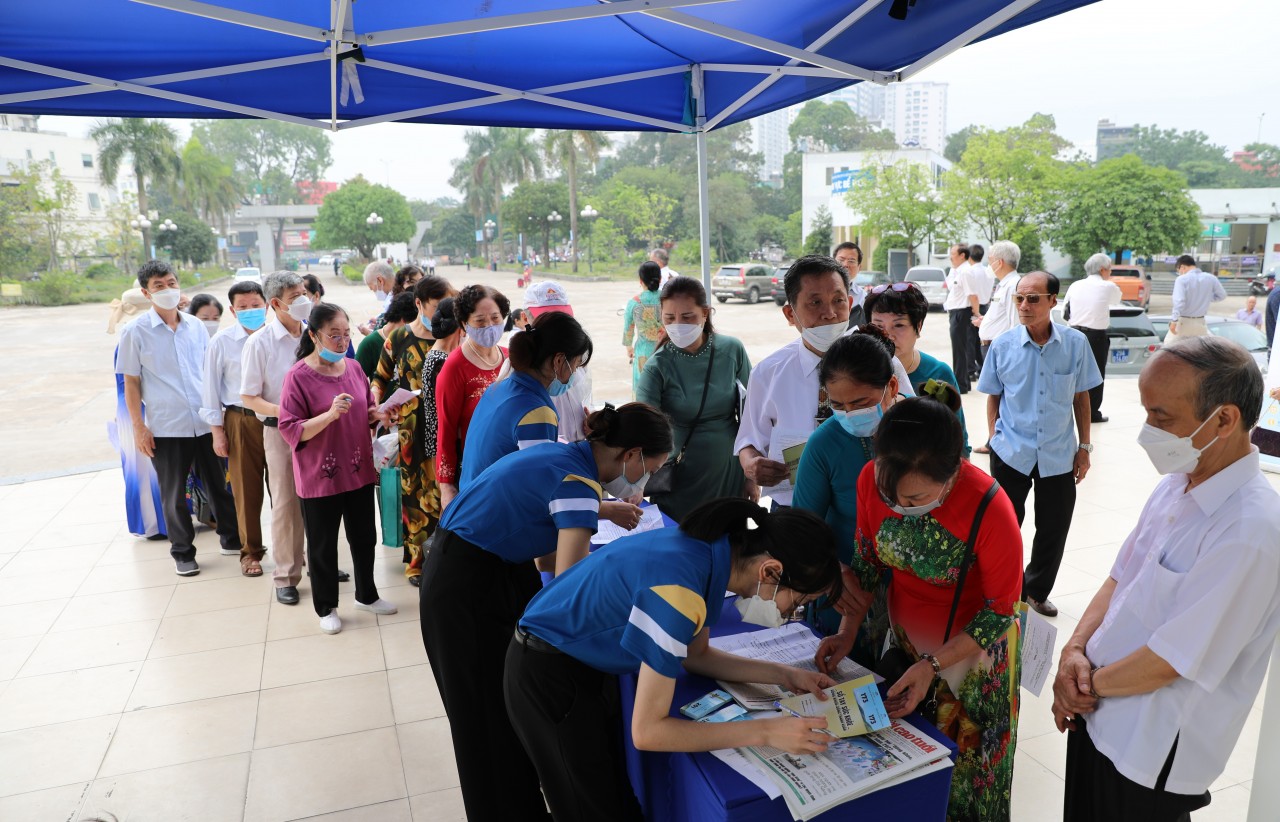
M 453 314 L 466 334 L 435 380 L 435 478 L 440 511 L 458 496 L 462 443 L 480 397 L 498 380 L 507 350 L 498 344 L 511 302 L 489 286 L 467 286 L 453 298 Z

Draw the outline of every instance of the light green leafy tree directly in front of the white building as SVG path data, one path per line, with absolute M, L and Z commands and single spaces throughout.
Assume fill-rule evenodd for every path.
M 910 160 L 864 175 L 850 187 L 845 201 L 861 215 L 864 228 L 878 236 L 901 237 L 913 254 L 925 239 L 956 224 L 952 205 L 933 189 L 929 170 Z

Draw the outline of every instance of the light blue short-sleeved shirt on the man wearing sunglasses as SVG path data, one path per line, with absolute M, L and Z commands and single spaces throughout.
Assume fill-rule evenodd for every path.
M 1075 394 L 1102 384 L 1084 334 L 1050 324 L 1038 346 L 1025 325 L 996 338 L 978 379 L 978 391 L 1000 396 L 1000 417 L 991 448 L 1020 474 L 1068 474 L 1075 465 Z

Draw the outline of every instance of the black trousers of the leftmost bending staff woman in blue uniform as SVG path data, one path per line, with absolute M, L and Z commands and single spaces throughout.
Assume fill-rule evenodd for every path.
M 470 822 L 549 818 L 502 693 L 507 644 L 540 588 L 532 562 L 504 562 L 447 530 L 435 531 L 422 562 L 422 644 L 449 717 Z

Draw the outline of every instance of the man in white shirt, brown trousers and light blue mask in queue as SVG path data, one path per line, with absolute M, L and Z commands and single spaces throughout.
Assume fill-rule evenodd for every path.
M 256 282 L 236 283 L 227 292 L 236 323 L 209 341 L 205 355 L 205 393 L 200 416 L 214 434 L 214 453 L 227 458 L 239 524 L 241 572 L 262 575 L 262 484 L 266 453 L 262 451 L 262 421 L 241 405 L 241 355 L 250 334 L 266 323 L 266 300 Z

